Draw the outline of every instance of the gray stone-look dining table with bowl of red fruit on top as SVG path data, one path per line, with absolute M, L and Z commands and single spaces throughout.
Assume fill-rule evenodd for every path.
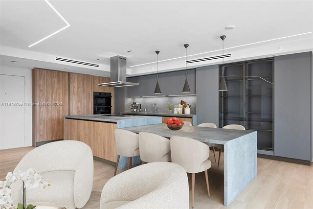
M 183 126 L 170 130 L 165 123 L 123 128 L 162 137 L 187 137 L 224 146 L 224 205 L 229 206 L 257 176 L 257 131 Z

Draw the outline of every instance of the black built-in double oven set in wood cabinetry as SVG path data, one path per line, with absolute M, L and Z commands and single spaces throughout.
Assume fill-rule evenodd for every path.
M 93 93 L 93 114 L 111 114 L 112 95 L 105 92 Z

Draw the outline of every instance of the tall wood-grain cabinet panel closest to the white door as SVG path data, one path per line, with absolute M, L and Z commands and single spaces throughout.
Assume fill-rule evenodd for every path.
M 32 69 L 32 145 L 63 139 L 68 115 L 68 72 Z

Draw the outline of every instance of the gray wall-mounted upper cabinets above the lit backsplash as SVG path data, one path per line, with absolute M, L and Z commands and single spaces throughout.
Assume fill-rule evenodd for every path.
M 159 73 L 158 84 L 161 94 L 154 94 L 156 88 L 156 73 L 127 78 L 128 82 L 139 83 L 138 86 L 127 87 L 127 97 L 135 96 L 168 96 L 196 94 L 196 70 L 188 71 L 188 83 L 191 93 L 182 93 L 185 82 L 185 70 Z

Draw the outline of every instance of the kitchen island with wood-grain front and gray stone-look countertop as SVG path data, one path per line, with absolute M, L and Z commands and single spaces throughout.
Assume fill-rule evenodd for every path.
M 78 140 L 88 144 L 95 160 L 115 165 L 116 148 L 114 130 L 132 126 L 159 124 L 160 117 L 126 115 L 82 115 L 64 116 L 64 139 Z M 121 156 L 118 169 L 127 167 L 127 157 Z M 140 163 L 133 157 L 132 163 Z

